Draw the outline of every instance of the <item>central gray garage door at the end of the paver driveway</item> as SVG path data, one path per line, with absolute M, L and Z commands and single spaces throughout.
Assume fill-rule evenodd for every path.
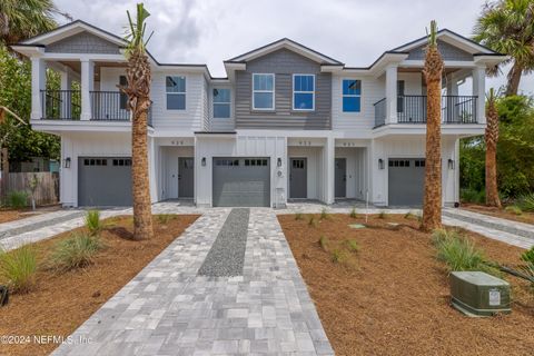
M 261 157 L 214 158 L 214 207 L 269 207 L 269 166 Z

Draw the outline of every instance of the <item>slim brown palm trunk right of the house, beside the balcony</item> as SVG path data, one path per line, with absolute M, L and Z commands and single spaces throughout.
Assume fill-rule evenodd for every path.
M 498 113 L 495 107 L 495 91 L 490 89 L 486 103 L 486 205 L 501 208 L 497 190 L 497 141 L 498 141 Z

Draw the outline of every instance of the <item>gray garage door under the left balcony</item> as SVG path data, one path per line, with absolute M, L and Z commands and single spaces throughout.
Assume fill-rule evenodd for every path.
M 131 206 L 131 158 L 80 157 L 78 205 Z

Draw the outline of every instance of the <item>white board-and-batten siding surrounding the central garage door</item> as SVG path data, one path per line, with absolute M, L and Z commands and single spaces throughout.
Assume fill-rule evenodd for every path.
M 197 137 L 195 187 L 198 206 L 211 206 L 214 157 L 266 157 L 270 159 L 270 205 L 285 202 L 287 195 L 287 139 L 277 136 Z M 201 165 L 206 158 L 206 166 Z M 283 169 L 277 167 L 280 158 Z M 281 170 L 281 176 L 278 171 Z

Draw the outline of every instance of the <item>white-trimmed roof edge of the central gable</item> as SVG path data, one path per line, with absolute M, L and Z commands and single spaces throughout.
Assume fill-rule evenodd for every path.
M 246 53 L 239 55 L 237 57 L 234 57 L 231 59 L 225 60 L 225 62 L 247 62 L 249 60 L 256 59 L 258 57 L 265 56 L 267 53 L 277 51 L 279 49 L 288 49 L 290 51 L 294 51 L 300 56 L 304 56 L 313 61 L 316 61 L 322 65 L 337 65 L 337 66 L 343 66 L 343 63 L 332 57 L 328 57 L 326 55 L 323 55 L 316 50 L 310 49 L 309 47 L 306 47 L 301 43 L 298 43 L 291 39 L 288 38 L 283 38 L 277 41 L 274 41 L 271 43 L 261 46 L 259 48 L 253 49 L 251 51 L 248 51 Z

